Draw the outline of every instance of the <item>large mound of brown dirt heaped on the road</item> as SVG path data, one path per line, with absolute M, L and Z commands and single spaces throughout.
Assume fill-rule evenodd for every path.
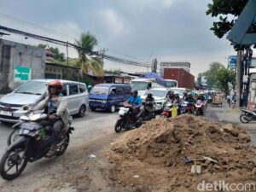
M 198 191 L 203 180 L 253 182 L 256 153 L 249 141 L 239 127 L 192 115 L 154 119 L 113 143 L 110 179 L 125 191 Z M 201 166 L 196 176 L 191 173 L 195 151 Z

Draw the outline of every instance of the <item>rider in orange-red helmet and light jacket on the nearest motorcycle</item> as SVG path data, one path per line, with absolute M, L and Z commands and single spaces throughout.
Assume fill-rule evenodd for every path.
M 66 128 L 69 119 L 67 110 L 67 100 L 61 97 L 63 85 L 59 80 L 50 81 L 48 84 L 49 96 L 39 102 L 33 110 L 43 110 L 48 114 L 48 119 L 42 121 L 43 125 L 51 125 L 52 130 L 52 146 L 48 152 L 48 156 L 55 153 L 56 142 L 61 129 Z

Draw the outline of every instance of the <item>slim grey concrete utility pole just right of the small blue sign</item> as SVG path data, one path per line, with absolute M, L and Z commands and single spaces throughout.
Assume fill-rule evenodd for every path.
M 236 107 L 240 107 L 241 100 L 241 55 L 243 55 L 243 50 L 238 50 L 236 59 Z

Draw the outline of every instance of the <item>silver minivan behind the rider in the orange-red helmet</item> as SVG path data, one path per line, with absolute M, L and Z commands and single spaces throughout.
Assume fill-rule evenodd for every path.
M 13 92 L 0 99 L 0 121 L 16 123 L 25 112 L 24 105 L 35 105 L 47 96 L 47 84 L 53 79 L 35 79 L 21 84 Z M 86 84 L 60 80 L 63 84 L 61 96 L 67 99 L 67 108 L 71 115 L 83 117 L 88 107 Z

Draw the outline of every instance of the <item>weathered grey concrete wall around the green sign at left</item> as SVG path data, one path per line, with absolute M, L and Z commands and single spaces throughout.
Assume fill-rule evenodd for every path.
M 0 38 L 0 93 L 8 93 L 24 83 L 14 79 L 15 67 L 30 68 L 29 79 L 44 79 L 45 50 Z

